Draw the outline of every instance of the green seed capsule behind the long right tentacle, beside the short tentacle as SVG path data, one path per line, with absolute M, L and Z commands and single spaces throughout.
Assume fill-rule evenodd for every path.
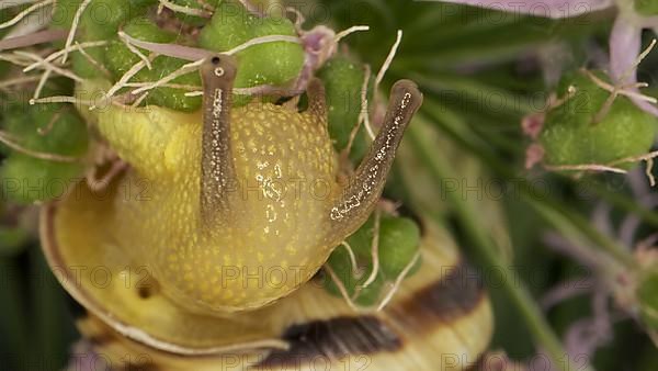
M 329 111 L 329 135 L 337 150 L 347 148 L 354 125 L 361 113 L 361 89 L 365 78 L 363 66 L 345 56 L 329 60 L 318 77 L 325 83 Z M 365 128 L 361 126 L 350 151 L 350 158 L 359 162 L 367 150 Z

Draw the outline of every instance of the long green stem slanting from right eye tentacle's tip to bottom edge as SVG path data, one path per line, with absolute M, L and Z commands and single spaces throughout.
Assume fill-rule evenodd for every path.
M 422 135 L 417 128 L 411 127 L 408 137 L 413 145 L 416 156 L 424 164 L 435 183 L 441 183 L 442 179 L 454 179 L 456 177 L 455 171 L 451 169 L 451 166 L 441 154 L 433 154 L 431 146 L 422 139 Z M 446 194 L 467 236 L 473 239 L 475 248 L 486 265 L 491 268 L 502 267 L 510 274 L 508 277 L 518 277 L 513 268 L 497 254 L 498 249 L 491 238 L 485 233 L 486 228 L 477 222 L 475 211 L 463 199 L 457 196 L 457 193 L 447 192 Z M 502 288 L 521 312 L 535 342 L 549 355 L 556 368 L 564 371 L 576 370 L 576 366 L 567 358 L 567 352 L 525 285 L 518 282 L 503 281 Z

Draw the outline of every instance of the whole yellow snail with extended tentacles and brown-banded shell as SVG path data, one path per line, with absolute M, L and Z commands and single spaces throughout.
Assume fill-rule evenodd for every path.
M 422 100 L 416 85 L 394 85 L 384 125 L 345 180 L 321 83 L 309 83 L 304 112 L 231 108 L 236 68 L 225 55 L 204 61 L 197 113 L 95 113 L 131 169 L 42 209 L 46 258 L 81 304 L 77 324 L 94 351 L 117 370 L 473 366 L 491 308 L 445 231 L 426 228 L 420 271 L 381 312 L 355 313 L 315 283 L 375 207 Z

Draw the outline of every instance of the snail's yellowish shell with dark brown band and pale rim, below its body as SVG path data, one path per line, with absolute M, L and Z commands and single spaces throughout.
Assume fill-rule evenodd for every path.
M 41 215 L 42 246 L 48 263 L 86 310 L 78 325 L 92 341 L 111 338 L 160 355 L 166 362 L 257 355 L 252 366 L 268 369 L 317 357 L 367 353 L 373 360 L 377 356 L 388 359 L 418 347 L 440 347 L 442 352 L 458 355 L 466 351 L 465 357 L 475 360 L 491 336 L 487 295 L 480 285 L 450 279 L 455 267 L 461 271 L 465 265 L 455 247 L 444 244 L 446 235 L 431 229 L 422 245 L 421 270 L 404 282 L 382 312 L 355 313 L 342 299 L 311 281 L 254 312 L 227 317 L 190 313 L 162 295 L 148 267 L 113 243 L 117 238 L 113 231 L 113 203 L 120 192 L 116 183 L 102 194 L 79 183 L 67 199 L 44 206 Z M 90 331 L 90 322 L 105 336 Z M 338 330 L 344 336 L 337 337 Z M 359 342 L 364 338 L 367 344 Z M 464 344 L 464 339 L 469 342 Z

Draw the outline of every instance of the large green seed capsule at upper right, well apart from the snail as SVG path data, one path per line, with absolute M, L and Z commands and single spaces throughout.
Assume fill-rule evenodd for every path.
M 565 77 L 559 97 L 566 95 L 568 86 L 576 89 L 575 95 L 547 113 L 540 135 L 547 165 L 610 165 L 649 150 L 656 117 L 626 97 L 617 97 L 602 120 L 594 122 L 610 92 L 585 74 Z M 627 168 L 632 164 L 616 166 Z

